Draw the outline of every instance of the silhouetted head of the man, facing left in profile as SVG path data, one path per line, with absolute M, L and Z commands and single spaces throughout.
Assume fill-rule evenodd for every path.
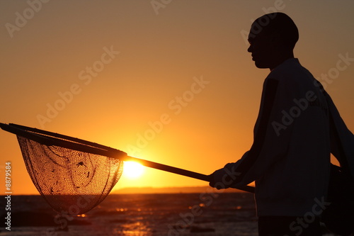
M 248 51 L 256 67 L 273 69 L 294 57 L 292 51 L 298 39 L 299 32 L 289 16 L 280 12 L 269 13 L 252 23 Z

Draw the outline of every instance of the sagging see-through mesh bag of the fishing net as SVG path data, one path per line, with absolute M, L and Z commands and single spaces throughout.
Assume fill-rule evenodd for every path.
M 122 175 L 119 159 L 17 138 L 35 187 L 59 213 L 77 215 L 91 210 Z

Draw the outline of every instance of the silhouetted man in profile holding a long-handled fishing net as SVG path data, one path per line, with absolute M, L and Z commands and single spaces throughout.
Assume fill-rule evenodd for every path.
M 256 67 L 270 69 L 253 145 L 238 162 L 214 172 L 210 182 L 220 189 L 256 181 L 260 236 L 321 235 L 319 216 L 329 206 L 330 153 L 336 149 L 331 150 L 336 144 L 330 117 L 354 143 L 321 84 L 294 58 L 298 38 L 285 13 L 270 13 L 252 24 L 248 52 Z

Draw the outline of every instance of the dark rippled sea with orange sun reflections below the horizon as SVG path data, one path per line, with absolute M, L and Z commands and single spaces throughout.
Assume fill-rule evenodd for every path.
M 258 235 L 251 193 L 115 194 L 75 216 L 57 215 L 41 196 L 12 196 L 11 215 L 0 235 Z

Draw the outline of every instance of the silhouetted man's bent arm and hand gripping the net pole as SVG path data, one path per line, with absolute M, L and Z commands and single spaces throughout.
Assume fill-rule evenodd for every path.
M 249 184 L 263 176 L 265 170 L 285 154 L 291 127 L 279 135 L 272 125 L 273 121 L 281 120 L 281 111 L 286 104 L 280 101 L 281 97 L 278 80 L 266 79 L 251 149 L 238 162 L 229 163 L 214 172 L 210 186 L 224 189 Z

